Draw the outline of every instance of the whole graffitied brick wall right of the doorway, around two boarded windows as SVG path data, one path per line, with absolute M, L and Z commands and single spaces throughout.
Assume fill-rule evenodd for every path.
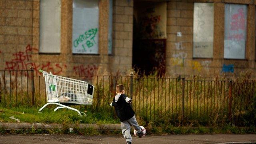
M 193 58 L 194 2 L 214 2 L 213 58 Z M 220 0 L 171 0 L 167 2 L 166 72 L 169 75 L 232 75 L 222 72 L 223 64 L 234 64 L 234 73 L 255 70 L 255 4 L 252 0 L 225 2 L 248 4 L 246 60 L 224 59 L 224 2 Z M 178 37 L 177 32 L 182 32 Z

